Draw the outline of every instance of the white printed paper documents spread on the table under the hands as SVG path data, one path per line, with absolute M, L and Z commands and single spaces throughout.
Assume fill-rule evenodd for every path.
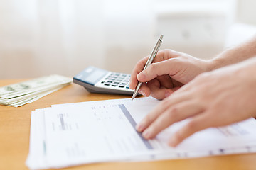
M 145 140 L 135 125 L 158 100 L 135 98 L 54 105 L 31 113 L 27 166 L 60 168 L 93 162 L 148 161 L 256 152 L 256 122 L 250 118 L 208 128 L 169 147 L 169 137 L 189 120 Z

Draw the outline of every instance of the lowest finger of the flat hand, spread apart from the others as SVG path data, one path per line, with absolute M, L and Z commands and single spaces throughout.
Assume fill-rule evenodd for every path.
M 207 113 L 196 115 L 189 123 L 183 126 L 181 130 L 178 130 L 169 140 L 171 147 L 176 147 L 187 137 L 193 135 L 195 132 L 204 130 L 211 127 L 211 118 Z

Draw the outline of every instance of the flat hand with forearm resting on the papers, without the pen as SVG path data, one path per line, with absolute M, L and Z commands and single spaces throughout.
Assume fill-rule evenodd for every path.
M 255 116 L 255 73 L 256 57 L 200 74 L 161 101 L 137 125 L 137 130 L 151 139 L 173 123 L 190 118 L 188 124 L 170 137 L 169 145 L 175 147 L 199 130 Z

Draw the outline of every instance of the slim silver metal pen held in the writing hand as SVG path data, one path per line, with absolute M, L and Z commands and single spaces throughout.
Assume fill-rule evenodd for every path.
M 160 46 L 161 46 L 161 42 L 163 42 L 163 40 L 162 40 L 163 37 L 164 37 L 164 35 L 161 35 L 160 38 L 159 38 L 159 40 L 156 42 L 156 45 L 155 45 L 153 51 L 151 52 L 151 55 L 149 56 L 149 59 L 147 60 L 144 69 L 146 69 L 146 67 L 148 67 L 148 66 L 153 62 L 154 57 L 156 57 L 156 54 L 157 54 L 157 52 L 159 51 L 159 48 L 160 48 Z M 143 69 L 143 70 L 144 70 L 144 69 Z M 139 83 L 137 84 L 136 88 L 134 89 L 134 93 L 133 93 L 133 95 L 132 95 L 132 100 L 137 96 L 138 91 L 139 91 L 139 88 L 140 88 L 141 86 L 142 86 L 142 82 L 139 82 Z

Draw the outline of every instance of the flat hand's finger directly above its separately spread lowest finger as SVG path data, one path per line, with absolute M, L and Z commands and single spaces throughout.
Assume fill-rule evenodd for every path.
M 166 109 L 164 113 L 159 115 L 159 117 L 156 118 L 156 120 L 154 120 L 154 122 L 151 123 L 146 130 L 144 130 L 142 135 L 146 139 L 154 138 L 159 132 L 169 127 L 173 123 L 189 118 L 193 115 L 201 113 L 202 111 L 202 106 L 191 101 L 178 103 L 175 106 Z

